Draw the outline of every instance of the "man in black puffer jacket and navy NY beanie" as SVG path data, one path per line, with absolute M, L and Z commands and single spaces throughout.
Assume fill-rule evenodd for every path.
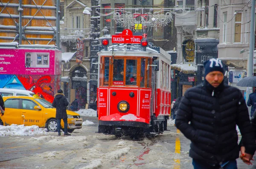
M 204 83 L 185 92 L 175 125 L 191 140 L 189 156 L 194 169 L 237 169 L 236 125 L 243 137 L 248 162 L 256 148 L 248 109 L 239 89 L 224 86 L 221 60 L 207 60 L 204 68 Z

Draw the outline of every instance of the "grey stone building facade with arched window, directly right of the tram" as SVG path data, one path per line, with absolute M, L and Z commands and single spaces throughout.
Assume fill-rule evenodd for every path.
M 177 60 L 172 64 L 172 100 L 204 80 L 204 61 L 218 57 L 218 0 L 176 0 Z M 189 13 L 186 13 L 189 11 Z M 181 65 L 181 66 L 180 66 Z

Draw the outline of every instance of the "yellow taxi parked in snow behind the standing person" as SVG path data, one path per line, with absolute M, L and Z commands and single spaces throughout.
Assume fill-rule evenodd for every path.
M 18 124 L 25 126 L 37 125 L 47 128 L 49 132 L 57 132 L 56 109 L 52 103 L 38 96 L 10 96 L 3 97 L 5 112 L 0 117 L 0 125 Z M 73 132 L 82 128 L 83 120 L 79 114 L 67 110 L 67 129 Z M 64 122 L 61 120 L 61 129 Z

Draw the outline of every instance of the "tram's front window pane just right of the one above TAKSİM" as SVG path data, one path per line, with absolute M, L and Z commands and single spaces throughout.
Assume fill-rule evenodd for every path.
M 137 60 L 126 60 L 125 84 L 137 85 Z

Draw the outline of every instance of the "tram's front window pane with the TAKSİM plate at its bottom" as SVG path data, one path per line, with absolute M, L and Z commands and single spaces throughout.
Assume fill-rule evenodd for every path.
M 113 61 L 113 85 L 124 84 L 124 60 L 114 59 Z

